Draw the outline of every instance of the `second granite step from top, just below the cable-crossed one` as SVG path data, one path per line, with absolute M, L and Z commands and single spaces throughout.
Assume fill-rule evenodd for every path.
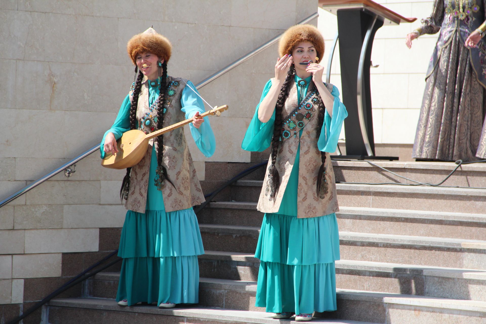
M 262 184 L 240 180 L 231 186 L 229 200 L 258 202 Z M 348 207 L 474 214 L 486 210 L 486 189 L 349 184 L 336 184 L 336 189 L 339 205 Z

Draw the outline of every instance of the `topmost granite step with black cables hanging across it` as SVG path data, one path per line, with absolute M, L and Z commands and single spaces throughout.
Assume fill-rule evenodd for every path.
M 430 184 L 441 182 L 457 167 L 454 162 L 372 161 L 372 163 L 411 180 Z M 332 166 L 336 181 L 339 182 L 414 183 L 384 171 L 367 161 L 333 160 Z M 461 165 L 443 185 L 486 188 L 486 164 Z

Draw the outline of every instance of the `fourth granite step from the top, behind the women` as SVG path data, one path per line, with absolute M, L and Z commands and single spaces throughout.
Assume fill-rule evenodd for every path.
M 260 227 L 200 224 L 211 251 L 254 253 Z M 341 258 L 486 270 L 486 241 L 340 232 Z

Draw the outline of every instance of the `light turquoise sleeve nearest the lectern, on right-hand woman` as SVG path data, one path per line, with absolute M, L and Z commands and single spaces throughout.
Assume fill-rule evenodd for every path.
M 322 152 L 333 153 L 336 151 L 337 141 L 341 134 L 343 121 L 347 117 L 347 110 L 344 104 L 339 100 L 339 90 L 336 86 L 332 87 L 332 96 L 334 104 L 332 105 L 332 118 L 328 111 L 324 113 L 324 124 L 322 125 L 321 135 L 317 141 L 317 148 Z

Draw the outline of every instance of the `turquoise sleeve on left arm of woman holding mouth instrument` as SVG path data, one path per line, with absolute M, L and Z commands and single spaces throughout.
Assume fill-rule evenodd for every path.
M 257 105 L 255 115 L 251 119 L 250 125 L 246 130 L 246 134 L 243 138 L 242 149 L 251 152 L 262 152 L 265 151 L 272 142 L 272 136 L 274 131 L 275 122 L 275 109 L 272 117 L 267 122 L 261 122 L 258 119 L 258 108 L 263 98 L 267 95 L 270 87 L 272 86 L 272 80 L 268 80 L 267 84 L 263 88 L 263 93 L 261 94 L 260 102 Z

